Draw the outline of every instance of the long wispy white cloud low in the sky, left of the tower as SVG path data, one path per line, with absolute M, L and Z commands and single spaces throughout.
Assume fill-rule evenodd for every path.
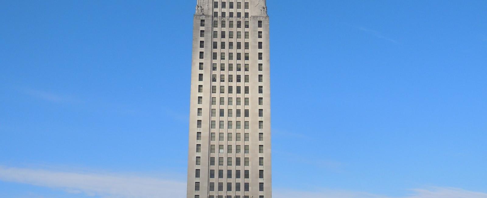
M 57 172 L 0 166 L 0 180 L 103 198 L 183 198 L 186 182 L 132 175 Z

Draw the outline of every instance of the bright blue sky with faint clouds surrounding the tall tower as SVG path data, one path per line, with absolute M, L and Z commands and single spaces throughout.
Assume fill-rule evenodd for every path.
M 0 0 L 0 197 L 185 197 L 195 5 Z M 487 1 L 267 5 L 275 198 L 487 198 Z

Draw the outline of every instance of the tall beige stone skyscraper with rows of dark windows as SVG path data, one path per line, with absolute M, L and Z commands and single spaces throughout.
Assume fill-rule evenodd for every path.
M 272 198 L 265 0 L 198 0 L 187 198 Z

